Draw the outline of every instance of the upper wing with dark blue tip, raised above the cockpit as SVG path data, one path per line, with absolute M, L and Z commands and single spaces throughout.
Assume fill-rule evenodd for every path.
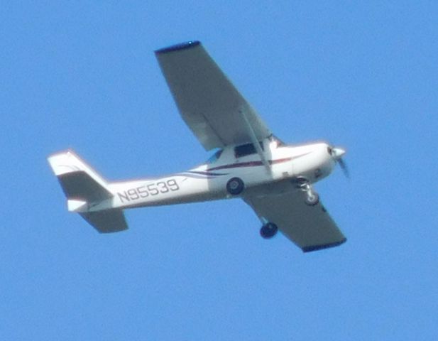
M 156 50 L 155 55 L 182 119 L 207 151 L 271 135 L 199 41 Z

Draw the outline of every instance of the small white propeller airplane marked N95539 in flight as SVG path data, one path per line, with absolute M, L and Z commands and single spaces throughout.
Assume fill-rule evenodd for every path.
M 67 210 L 109 233 L 128 229 L 124 209 L 241 198 L 265 239 L 280 230 L 305 252 L 346 242 L 313 188 L 336 164 L 348 175 L 344 148 L 278 139 L 197 40 L 155 56 L 182 119 L 213 155 L 182 173 L 108 181 L 74 151 L 55 153 L 48 161 Z

